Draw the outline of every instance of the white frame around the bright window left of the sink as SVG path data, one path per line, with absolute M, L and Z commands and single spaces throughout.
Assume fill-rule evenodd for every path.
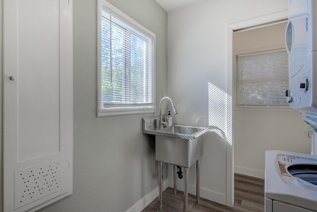
M 106 6 L 111 12 L 117 14 L 121 18 L 123 18 L 126 22 L 131 23 L 132 25 L 138 27 L 141 31 L 144 31 L 153 37 L 153 106 L 145 106 L 145 107 L 121 107 L 121 108 L 103 108 L 101 102 L 101 21 L 102 21 L 102 10 L 103 5 Z M 97 63 L 98 63 L 98 71 L 97 71 L 97 117 L 103 116 L 114 116 L 114 115 L 128 115 L 128 114 L 140 114 L 140 113 L 154 113 L 157 110 L 156 107 L 156 34 L 145 28 L 137 21 L 132 19 L 130 16 L 126 15 L 124 12 L 107 2 L 106 0 L 98 0 L 98 12 L 97 12 Z

